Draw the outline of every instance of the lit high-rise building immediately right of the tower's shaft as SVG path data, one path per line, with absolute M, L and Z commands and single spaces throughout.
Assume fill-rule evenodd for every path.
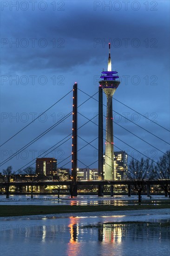
M 122 181 L 125 179 L 125 172 L 128 169 L 128 155 L 125 151 L 114 152 L 115 180 Z

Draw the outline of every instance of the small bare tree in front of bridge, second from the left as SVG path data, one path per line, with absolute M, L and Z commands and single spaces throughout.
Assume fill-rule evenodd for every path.
M 43 180 L 43 175 L 37 175 L 34 167 L 28 167 L 25 169 L 25 180 L 31 186 L 31 198 L 33 198 L 33 188 L 36 184 Z

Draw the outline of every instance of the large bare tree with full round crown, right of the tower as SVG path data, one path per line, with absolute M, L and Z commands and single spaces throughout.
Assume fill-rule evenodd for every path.
M 140 162 L 132 159 L 125 174 L 127 179 L 133 182 L 135 191 L 138 193 L 138 202 L 141 202 L 145 181 L 153 179 L 153 162 L 143 157 Z

